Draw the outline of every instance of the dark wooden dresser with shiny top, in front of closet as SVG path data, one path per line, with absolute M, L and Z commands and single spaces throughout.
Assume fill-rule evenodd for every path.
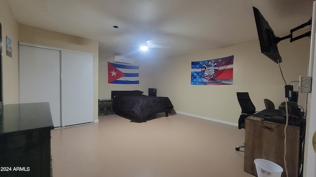
M 7 104 L 0 115 L 0 177 L 50 177 L 49 103 Z

